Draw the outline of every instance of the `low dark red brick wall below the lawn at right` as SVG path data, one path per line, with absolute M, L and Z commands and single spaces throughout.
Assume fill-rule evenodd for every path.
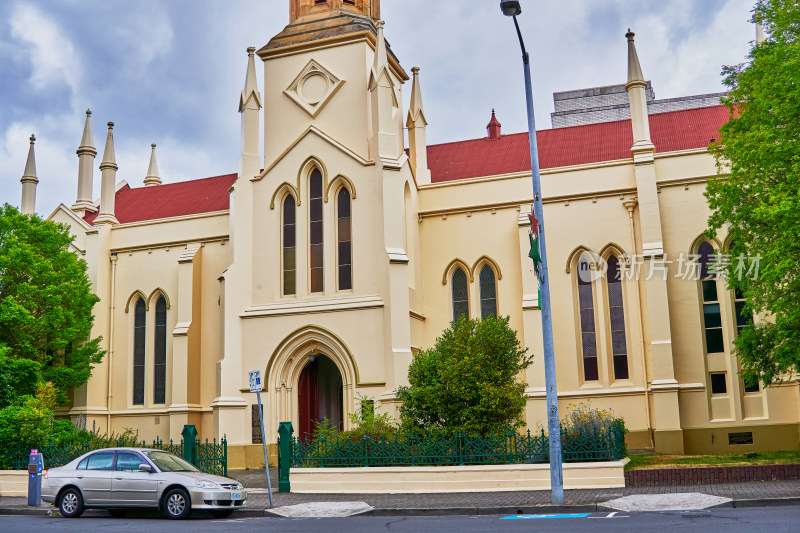
M 800 464 L 665 468 L 625 472 L 626 487 L 705 485 L 784 479 L 800 479 Z

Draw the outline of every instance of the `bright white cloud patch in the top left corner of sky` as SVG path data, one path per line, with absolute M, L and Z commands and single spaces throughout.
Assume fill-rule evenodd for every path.
M 30 61 L 30 82 L 37 90 L 66 83 L 80 86 L 82 66 L 72 42 L 59 25 L 31 4 L 17 4 L 9 20 L 19 54 Z

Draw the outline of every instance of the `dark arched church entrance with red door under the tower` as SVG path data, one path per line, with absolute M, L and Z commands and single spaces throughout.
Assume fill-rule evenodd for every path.
M 325 355 L 312 355 L 298 383 L 298 407 L 302 440 L 311 439 L 317 422 L 327 419 L 331 426 L 344 429 L 342 375 Z

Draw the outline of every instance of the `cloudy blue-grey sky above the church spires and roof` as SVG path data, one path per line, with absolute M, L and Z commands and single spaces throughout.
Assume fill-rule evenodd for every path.
M 496 0 L 383 0 L 386 38 L 420 67 L 429 144 L 527 130 L 513 23 Z M 754 0 L 522 0 L 537 129 L 552 93 L 624 83 L 627 28 L 656 97 L 724 90 L 755 38 Z M 18 206 L 35 133 L 36 210 L 72 205 L 85 110 L 96 164 L 113 121 L 118 179 L 142 186 L 150 144 L 164 182 L 236 172 L 246 48 L 288 23 L 289 0 L 0 0 L 0 204 Z M 257 66 L 263 88 L 263 69 Z M 404 87 L 408 106 L 411 87 Z M 95 196 L 100 172 L 95 168 Z

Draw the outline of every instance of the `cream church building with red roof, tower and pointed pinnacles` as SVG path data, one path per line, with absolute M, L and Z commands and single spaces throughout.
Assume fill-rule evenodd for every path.
M 428 145 L 421 73 L 387 44 L 380 0 L 289 4 L 289 25 L 247 51 L 235 173 L 165 183 L 153 145 L 142 183 L 118 182 L 113 124 L 100 154 L 87 111 L 76 198 L 49 218 L 89 265 L 107 355 L 62 414 L 147 440 L 194 424 L 227 437 L 231 468 L 254 467 L 248 371 L 274 445 L 281 421 L 346 429 L 361 397 L 395 412 L 415 352 L 460 315 L 500 315 L 534 354 L 528 427 L 546 425 L 528 134 L 492 113 L 485 137 Z M 630 448 L 798 449 L 800 381 L 742 381 L 733 341 L 751 318 L 711 268 L 729 241 L 703 236 L 707 147 L 729 112 L 719 95 L 653 104 L 627 41 L 624 88 L 557 95 L 613 93 L 622 114 L 600 98 L 594 118 L 565 118 L 562 102 L 561 125 L 538 132 L 562 414 L 610 408 Z

